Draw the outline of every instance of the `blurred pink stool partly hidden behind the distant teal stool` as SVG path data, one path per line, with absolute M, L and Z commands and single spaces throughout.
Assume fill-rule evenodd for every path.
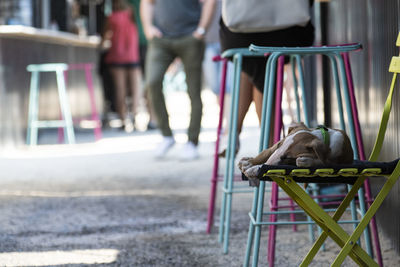
M 77 63 L 77 64 L 68 64 L 68 69 L 64 71 L 64 78 L 65 81 L 67 82 L 68 80 L 68 72 L 71 70 L 80 70 L 85 72 L 85 79 L 86 79 L 86 85 L 89 93 L 89 100 L 90 100 L 90 109 L 91 109 L 91 119 L 93 122 L 96 123 L 96 126 L 94 127 L 94 138 L 96 141 L 100 140 L 102 137 L 102 131 L 101 131 L 101 120 L 99 118 L 99 113 L 97 112 L 97 107 L 96 107 L 96 99 L 94 95 L 94 86 L 93 86 L 93 76 L 92 76 L 92 70 L 94 68 L 93 63 Z M 58 131 L 58 141 L 61 142 L 61 140 L 64 139 L 64 134 L 63 131 Z

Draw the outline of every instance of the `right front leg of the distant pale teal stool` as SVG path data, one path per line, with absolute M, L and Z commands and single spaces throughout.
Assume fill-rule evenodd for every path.
M 65 122 L 64 131 L 69 144 L 75 143 L 74 126 L 72 123 L 72 115 L 69 108 L 69 99 L 65 88 L 64 74 L 62 70 L 56 71 L 58 95 L 60 99 L 61 112 Z

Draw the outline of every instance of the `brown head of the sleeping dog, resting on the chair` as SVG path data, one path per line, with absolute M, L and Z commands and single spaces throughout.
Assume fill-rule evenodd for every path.
M 281 155 L 279 164 L 311 167 L 327 163 L 330 148 L 316 136 L 309 132 L 300 132 L 292 139 L 292 143 Z

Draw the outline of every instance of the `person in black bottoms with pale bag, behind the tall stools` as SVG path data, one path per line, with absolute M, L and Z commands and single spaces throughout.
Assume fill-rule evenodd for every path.
M 314 26 L 309 13 L 312 0 L 222 0 L 222 2 L 220 20 L 222 51 L 247 48 L 251 44 L 297 47 L 311 46 L 314 42 Z M 266 57 L 243 59 L 238 136 L 252 101 L 261 119 L 266 60 Z M 239 143 L 239 139 L 237 142 Z

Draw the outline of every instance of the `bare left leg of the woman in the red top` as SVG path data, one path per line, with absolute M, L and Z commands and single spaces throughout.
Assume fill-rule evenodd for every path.
M 123 67 L 111 67 L 110 72 L 115 86 L 116 110 L 123 121 L 126 116 L 126 72 Z

